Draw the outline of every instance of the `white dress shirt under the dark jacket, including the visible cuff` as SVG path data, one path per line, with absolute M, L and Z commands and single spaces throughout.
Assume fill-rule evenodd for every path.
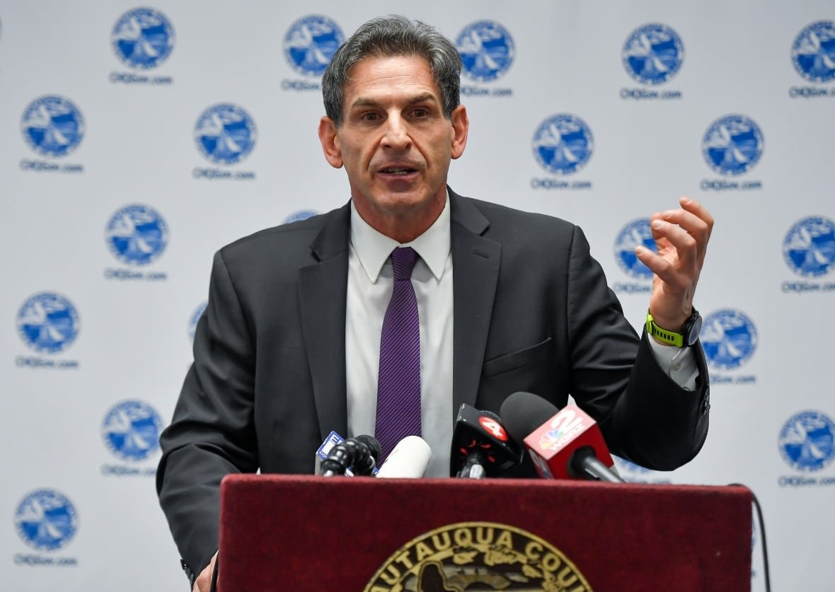
M 427 477 L 449 476 L 453 438 L 453 256 L 449 196 L 441 215 L 412 242 L 401 245 L 368 225 L 351 202 L 348 251 L 345 358 L 348 433 L 373 434 L 377 420 L 380 334 L 393 274 L 389 256 L 411 246 L 419 256 L 412 287 L 420 316 L 422 438 L 432 448 Z M 650 339 L 652 351 L 670 377 L 687 390 L 696 387 L 696 360 L 687 348 L 665 347 Z

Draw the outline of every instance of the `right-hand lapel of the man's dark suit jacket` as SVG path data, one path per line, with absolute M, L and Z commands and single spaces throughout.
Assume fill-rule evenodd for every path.
M 489 221 L 467 198 L 450 194 L 453 251 L 453 420 L 475 405 L 502 247 L 482 236 Z

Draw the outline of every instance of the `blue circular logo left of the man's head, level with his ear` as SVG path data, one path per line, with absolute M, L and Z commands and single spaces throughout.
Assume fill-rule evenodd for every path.
M 235 104 L 213 105 L 195 124 L 197 149 L 215 164 L 235 164 L 245 159 L 257 138 L 255 120 Z

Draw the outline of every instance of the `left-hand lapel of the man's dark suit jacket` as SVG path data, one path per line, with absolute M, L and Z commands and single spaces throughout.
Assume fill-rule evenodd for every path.
M 319 431 L 347 433 L 345 311 L 350 204 L 337 210 L 311 242 L 318 262 L 299 270 L 301 326 Z

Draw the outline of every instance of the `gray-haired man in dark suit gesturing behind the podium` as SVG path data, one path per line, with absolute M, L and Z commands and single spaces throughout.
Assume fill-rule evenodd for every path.
M 393 414 L 417 413 L 431 475 L 447 470 L 458 406 L 496 412 L 515 391 L 558 406 L 572 395 L 613 452 L 650 468 L 676 468 L 701 448 L 708 386 L 692 298 L 711 216 L 686 198 L 653 215 L 658 253 L 636 249 L 655 272 L 653 336 L 639 338 L 578 227 L 446 185 L 468 135 L 460 67 L 452 43 L 423 23 L 363 25 L 322 80 L 319 137 L 347 171 L 351 202 L 215 256 L 157 474 L 186 572 L 200 574 L 195 589 L 208 589 L 215 562 L 220 479 L 311 473 L 331 430 L 381 433 L 392 365 L 415 373 L 417 392 L 398 375 L 395 398 L 417 397 L 417 408 Z M 392 293 L 412 302 L 412 370 L 406 350 L 384 361 Z

